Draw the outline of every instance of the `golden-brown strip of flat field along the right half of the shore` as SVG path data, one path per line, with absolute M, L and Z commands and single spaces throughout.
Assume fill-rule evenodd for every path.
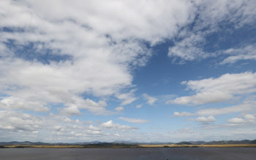
M 256 144 L 233 144 L 233 145 L 176 145 L 176 144 L 161 144 L 161 145 L 148 145 L 148 144 L 141 144 L 140 147 L 144 148 L 163 148 L 163 147 L 169 147 L 169 148 L 194 148 L 194 147 L 217 147 L 217 148 L 236 148 L 236 147 L 256 147 Z

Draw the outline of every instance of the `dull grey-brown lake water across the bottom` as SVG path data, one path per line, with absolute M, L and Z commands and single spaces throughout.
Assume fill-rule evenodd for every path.
M 2 148 L 1 160 L 256 159 L 256 148 Z

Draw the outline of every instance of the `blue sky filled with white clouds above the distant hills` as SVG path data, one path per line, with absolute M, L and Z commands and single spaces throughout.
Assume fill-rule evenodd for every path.
M 255 140 L 255 8 L 1 0 L 0 140 Z

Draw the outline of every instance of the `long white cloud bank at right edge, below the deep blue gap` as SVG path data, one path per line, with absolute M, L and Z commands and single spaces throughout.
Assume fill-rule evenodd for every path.
M 198 81 L 183 81 L 187 89 L 195 95 L 177 97 L 169 103 L 178 105 L 202 105 L 206 103 L 219 103 L 232 100 L 238 95 L 256 92 L 256 73 L 227 73 L 219 78 L 202 79 Z

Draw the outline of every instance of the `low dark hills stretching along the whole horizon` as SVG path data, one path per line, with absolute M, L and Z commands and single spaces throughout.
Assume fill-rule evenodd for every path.
M 107 144 L 105 142 L 92 141 L 83 143 L 42 143 L 42 142 L 0 142 L 0 145 L 89 145 L 89 144 Z M 162 142 L 152 142 L 152 143 L 138 143 L 132 141 L 113 141 L 112 144 L 176 144 L 176 145 L 224 145 L 224 144 L 256 144 L 256 140 L 220 140 L 220 141 L 182 141 L 180 143 L 162 143 Z

